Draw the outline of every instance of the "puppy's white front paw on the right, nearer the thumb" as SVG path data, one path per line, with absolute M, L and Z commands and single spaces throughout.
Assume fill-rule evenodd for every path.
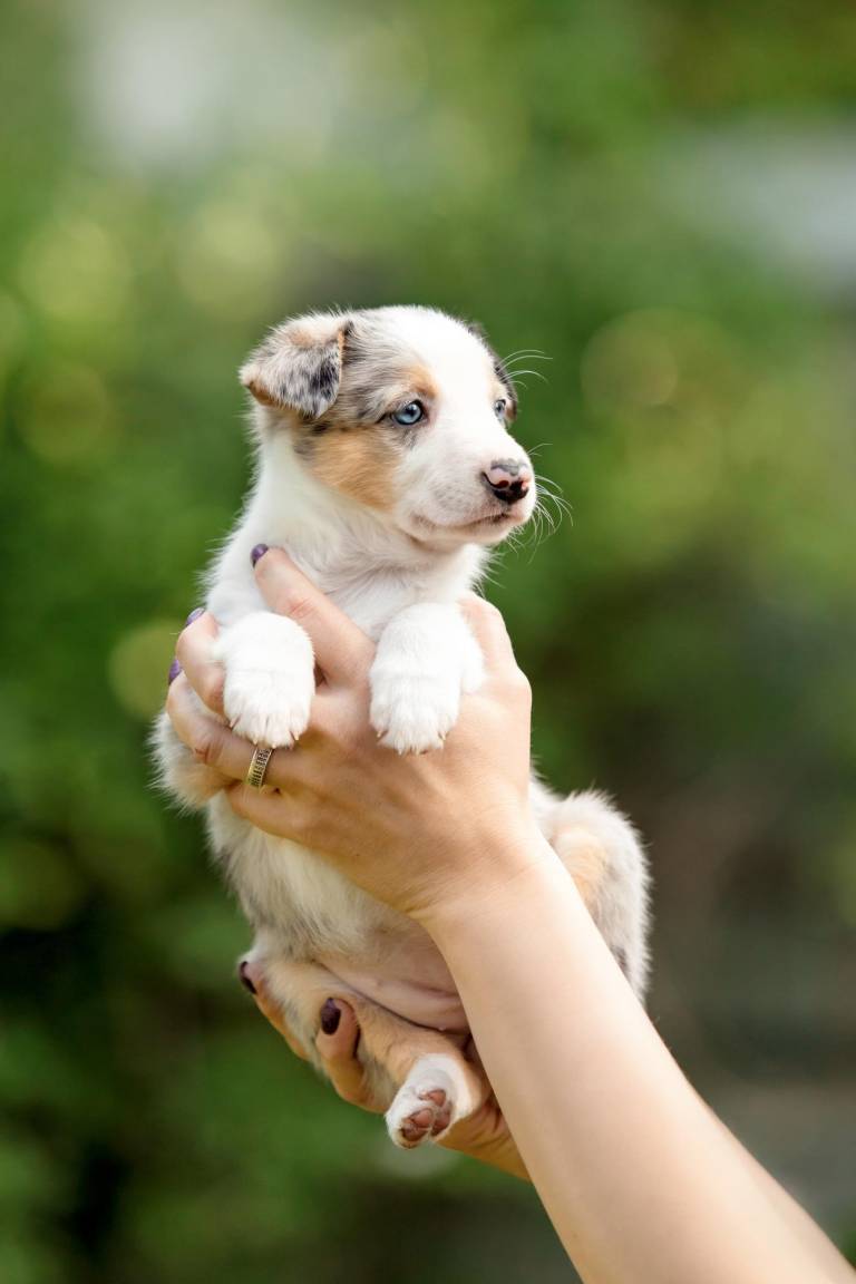
M 457 673 L 412 674 L 385 668 L 372 673 L 370 719 L 382 745 L 398 754 L 440 749 L 461 706 Z

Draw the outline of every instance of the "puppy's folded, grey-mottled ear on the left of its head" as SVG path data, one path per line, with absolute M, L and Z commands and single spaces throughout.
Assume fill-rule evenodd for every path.
M 239 377 L 262 406 L 317 419 L 339 394 L 347 316 L 313 313 L 285 321 L 250 353 Z

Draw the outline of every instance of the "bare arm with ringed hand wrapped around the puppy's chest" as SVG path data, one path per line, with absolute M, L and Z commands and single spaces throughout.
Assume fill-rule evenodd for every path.
M 852 1279 L 687 1084 L 538 835 L 526 804 L 529 701 L 495 615 L 470 607 L 489 679 L 443 752 L 399 759 L 366 729 L 368 639 L 280 555 L 258 570 L 271 605 L 313 637 L 326 681 L 299 749 L 271 763 L 275 788 L 235 785 L 230 800 L 431 932 L 584 1279 Z M 180 656 L 200 690 L 193 629 Z M 203 725 L 182 701 L 184 679 L 173 691 L 182 738 L 241 781 L 250 746 Z

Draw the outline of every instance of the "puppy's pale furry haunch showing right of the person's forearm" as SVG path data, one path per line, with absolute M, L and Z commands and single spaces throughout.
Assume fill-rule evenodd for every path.
M 633 826 L 602 794 L 554 799 L 533 783 L 544 837 L 572 876 L 592 918 L 639 998 L 648 975 L 648 868 Z

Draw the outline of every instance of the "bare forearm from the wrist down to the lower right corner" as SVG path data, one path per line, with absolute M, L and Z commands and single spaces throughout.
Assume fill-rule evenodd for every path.
M 687 1084 L 552 853 L 429 927 L 584 1279 L 834 1278 Z

